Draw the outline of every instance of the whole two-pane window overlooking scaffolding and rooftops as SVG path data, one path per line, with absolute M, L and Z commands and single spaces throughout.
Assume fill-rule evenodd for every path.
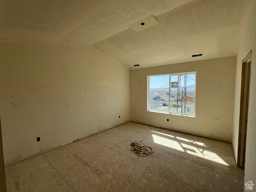
M 195 116 L 196 72 L 148 76 L 148 111 Z

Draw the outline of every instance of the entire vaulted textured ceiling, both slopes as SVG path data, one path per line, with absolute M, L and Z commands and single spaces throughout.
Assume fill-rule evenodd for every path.
M 232 56 L 247 5 L 248 0 L 2 0 L 0 41 L 93 44 L 129 68 Z M 129 27 L 150 15 L 158 23 L 145 22 L 140 31 Z

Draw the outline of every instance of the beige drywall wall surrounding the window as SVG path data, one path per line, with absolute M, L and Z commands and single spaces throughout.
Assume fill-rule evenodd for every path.
M 130 70 L 131 120 L 231 142 L 235 70 L 236 56 Z M 147 76 L 192 71 L 196 117 L 147 111 Z

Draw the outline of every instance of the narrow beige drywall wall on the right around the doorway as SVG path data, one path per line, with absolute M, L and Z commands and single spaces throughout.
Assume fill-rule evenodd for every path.
M 247 20 L 244 24 L 244 33 L 240 42 L 240 49 L 237 55 L 236 66 L 236 88 L 234 98 L 234 120 L 233 120 L 233 150 L 237 161 L 238 151 L 238 131 L 239 131 L 239 114 L 240 114 L 240 93 L 241 93 L 241 72 L 242 60 L 252 50 L 251 60 L 251 81 L 249 94 L 249 108 L 247 121 L 247 138 L 246 138 L 246 163 L 244 172 L 244 182 L 252 181 L 256 186 L 256 1 L 251 0 L 247 13 Z M 246 14 L 246 13 L 245 13 Z M 253 186 L 252 191 L 256 191 Z M 244 191 L 246 186 L 244 185 Z

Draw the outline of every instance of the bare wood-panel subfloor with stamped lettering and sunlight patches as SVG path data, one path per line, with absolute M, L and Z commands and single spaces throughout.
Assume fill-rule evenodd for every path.
M 153 156 L 131 151 L 141 140 Z M 133 122 L 7 166 L 5 174 L 7 192 L 243 190 L 231 144 Z

